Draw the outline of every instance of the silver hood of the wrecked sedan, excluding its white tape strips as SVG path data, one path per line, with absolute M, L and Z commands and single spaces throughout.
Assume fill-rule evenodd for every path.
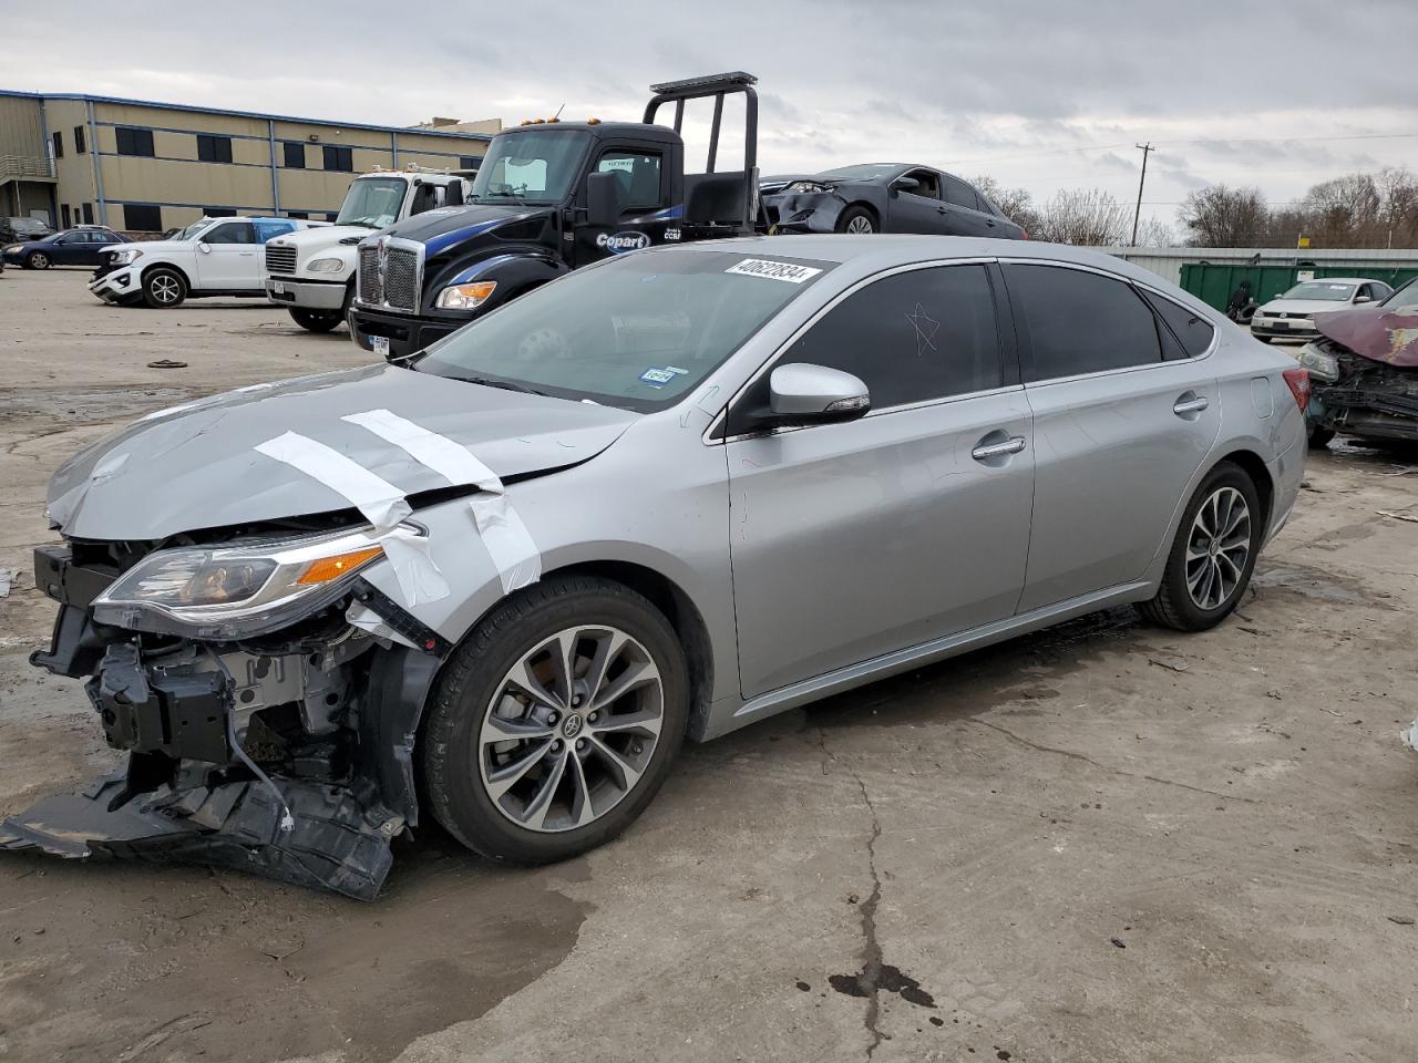
M 71 458 L 50 480 L 50 519 L 79 539 L 149 540 L 349 509 L 339 492 L 254 449 L 285 432 L 332 446 L 406 495 L 450 486 L 340 420 L 369 410 L 465 445 L 503 479 L 586 461 L 637 420 L 390 364 L 258 384 L 149 414 Z

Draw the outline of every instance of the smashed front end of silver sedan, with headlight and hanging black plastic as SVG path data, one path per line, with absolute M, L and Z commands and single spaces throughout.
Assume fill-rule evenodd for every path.
M 373 899 L 417 823 L 413 743 L 447 645 L 360 578 L 367 527 L 35 551 L 31 663 L 85 680 L 126 770 L 0 823 L 0 849 L 183 860 Z

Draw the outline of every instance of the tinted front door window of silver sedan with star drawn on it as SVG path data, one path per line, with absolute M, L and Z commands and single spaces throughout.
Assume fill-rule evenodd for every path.
M 777 364 L 794 361 L 859 377 L 873 410 L 1000 387 L 986 268 L 930 266 L 876 281 L 834 306 Z

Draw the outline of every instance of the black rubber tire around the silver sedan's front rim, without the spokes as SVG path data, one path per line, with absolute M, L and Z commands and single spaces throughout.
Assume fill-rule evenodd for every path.
M 662 685 L 661 731 L 638 782 L 618 804 L 584 826 L 539 832 L 513 822 L 488 794 L 479 736 L 492 713 L 493 696 L 513 665 L 556 632 L 577 625 L 614 626 L 645 648 Z M 498 605 L 445 663 L 420 740 L 428 804 L 448 833 L 491 860 L 512 865 L 564 860 L 611 840 L 640 816 L 668 777 L 688 720 L 688 668 L 665 617 L 621 584 L 580 575 L 553 577 Z M 567 754 L 570 744 L 571 737 Z

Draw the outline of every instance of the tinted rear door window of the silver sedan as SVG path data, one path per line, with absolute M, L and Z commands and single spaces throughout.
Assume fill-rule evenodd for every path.
M 1157 319 L 1123 281 L 1052 265 L 1004 266 L 1028 336 L 1025 380 L 1055 380 L 1161 361 Z

